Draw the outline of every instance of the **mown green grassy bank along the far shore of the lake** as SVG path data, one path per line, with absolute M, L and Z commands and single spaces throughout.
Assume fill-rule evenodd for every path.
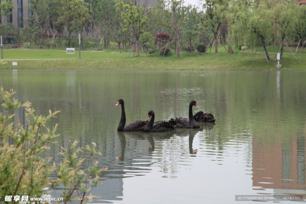
M 263 53 L 204 54 L 181 57 L 127 57 L 127 53 L 78 52 L 73 56 L 63 50 L 5 50 L 9 58 L 2 69 L 164 69 L 164 70 L 265 70 L 277 69 L 277 61 L 265 61 Z M 275 54 L 270 54 L 274 58 Z M 280 70 L 306 70 L 305 54 L 284 53 Z M 34 59 L 32 59 L 34 58 Z M 12 62 L 18 65 L 13 66 Z

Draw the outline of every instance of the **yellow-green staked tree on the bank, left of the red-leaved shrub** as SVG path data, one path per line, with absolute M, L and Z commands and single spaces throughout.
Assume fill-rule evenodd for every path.
M 130 31 L 134 34 L 136 41 L 136 55 L 140 56 L 138 40 L 144 24 L 146 24 L 147 20 L 149 19 L 148 14 L 151 13 L 152 7 L 149 6 L 146 9 L 145 3 L 143 7 L 135 6 L 134 3 L 124 4 L 122 0 L 119 0 L 116 5 L 118 6 L 117 12 L 120 12 L 125 23 L 124 31 Z

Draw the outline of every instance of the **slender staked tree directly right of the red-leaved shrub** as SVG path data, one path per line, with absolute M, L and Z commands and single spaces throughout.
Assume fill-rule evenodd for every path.
M 175 53 L 178 57 L 180 55 L 179 31 L 184 22 L 186 10 L 184 0 L 158 0 L 158 2 L 163 16 L 169 20 L 169 22 L 162 21 L 161 23 L 166 28 L 172 27 L 174 29 Z

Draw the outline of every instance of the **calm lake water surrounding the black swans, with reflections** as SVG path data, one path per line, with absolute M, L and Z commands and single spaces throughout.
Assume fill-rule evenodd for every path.
M 103 185 L 93 203 L 237 203 L 235 195 L 305 195 L 305 71 L 2 70 L 2 86 L 36 114 L 62 110 L 58 144 L 97 144 Z M 117 132 L 126 121 L 212 113 L 172 132 Z M 23 120 L 24 110 L 14 118 Z M 60 197 L 61 189 L 50 194 Z M 296 203 L 269 201 L 270 203 Z M 249 203 L 249 202 L 238 202 Z

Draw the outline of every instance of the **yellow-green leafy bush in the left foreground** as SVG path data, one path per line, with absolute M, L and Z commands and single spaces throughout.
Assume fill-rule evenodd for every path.
M 58 166 L 51 163 L 52 158 L 40 157 L 38 154 L 50 149 L 50 143 L 56 143 L 54 139 L 59 136 L 56 133 L 58 124 L 52 129 L 46 128 L 45 124 L 60 111 L 49 111 L 48 116 L 35 116 L 30 102 L 21 104 L 15 98 L 11 99 L 14 93 L 12 89 L 9 92 L 0 87 L 0 102 L 3 107 L 0 112 L 0 197 L 41 197 L 44 187 L 62 184 L 65 186 L 62 195 L 65 203 L 71 201 L 73 196 L 76 197 L 76 193 L 80 195 L 82 203 L 85 194 L 91 189 L 86 187 L 87 183 L 92 187 L 98 186 L 98 173 L 103 170 L 98 168 L 97 161 L 92 162 L 93 155 L 99 154 L 95 152 L 95 144 L 93 143 L 93 148 L 85 148 L 90 159 L 82 169 L 80 166 L 84 159 L 76 156 L 82 148 L 73 151 L 77 142 L 72 143 L 68 149 L 62 148 L 63 160 Z M 20 108 L 25 109 L 25 124 L 21 124 L 19 118 L 14 120 L 17 124 L 13 122 L 16 116 L 12 112 Z M 51 177 L 54 172 L 57 173 L 56 176 Z

